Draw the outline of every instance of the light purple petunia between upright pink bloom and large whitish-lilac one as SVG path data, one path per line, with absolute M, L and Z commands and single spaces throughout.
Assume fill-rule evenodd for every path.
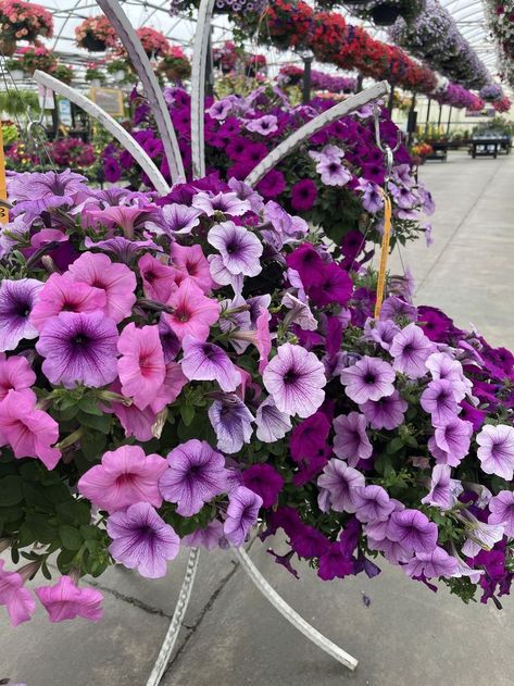
M 240 373 L 220 346 L 185 336 L 183 350 L 181 367 L 190 382 L 217 382 L 225 392 L 240 385 Z

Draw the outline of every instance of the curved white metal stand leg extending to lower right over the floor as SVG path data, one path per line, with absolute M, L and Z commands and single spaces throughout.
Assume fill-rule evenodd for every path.
M 271 586 L 261 572 L 253 564 L 247 552 L 242 548 L 234 548 L 234 554 L 239 560 L 242 569 L 255 584 L 262 595 L 268 600 L 274 608 L 280 612 L 286 620 L 292 624 L 299 632 L 309 638 L 318 648 L 328 653 L 331 658 L 343 664 L 346 668 L 353 670 L 359 664 L 359 660 L 352 658 L 351 654 L 339 648 L 335 643 L 326 638 L 317 629 L 315 629 L 309 622 L 298 614 L 287 602 L 281 598 L 277 591 Z

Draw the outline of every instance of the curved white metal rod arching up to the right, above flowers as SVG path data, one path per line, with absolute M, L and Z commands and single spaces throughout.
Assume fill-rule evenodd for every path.
M 284 158 L 289 154 L 301 142 L 316 134 L 319 129 L 322 129 L 327 124 L 331 124 L 339 120 L 341 116 L 349 114 L 355 110 L 359 110 L 363 105 L 368 102 L 373 102 L 374 100 L 378 100 L 378 98 L 383 98 L 384 96 L 390 92 L 390 86 L 387 82 L 380 82 L 375 84 L 371 88 L 366 88 L 366 90 L 362 90 L 361 92 L 348 98 L 343 102 L 334 105 L 326 112 L 323 112 L 315 119 L 311 120 L 303 126 L 301 126 L 298 130 L 291 134 L 286 140 L 283 140 L 275 150 L 272 150 L 267 157 L 264 158 L 255 169 L 250 172 L 250 174 L 245 179 L 247 184 L 250 186 L 255 186 L 262 178 L 272 170 L 274 166 L 284 160 Z

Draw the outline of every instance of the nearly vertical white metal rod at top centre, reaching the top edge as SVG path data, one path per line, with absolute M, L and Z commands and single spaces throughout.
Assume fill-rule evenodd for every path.
M 205 176 L 205 68 L 214 0 L 201 0 L 191 65 L 191 155 L 192 176 Z

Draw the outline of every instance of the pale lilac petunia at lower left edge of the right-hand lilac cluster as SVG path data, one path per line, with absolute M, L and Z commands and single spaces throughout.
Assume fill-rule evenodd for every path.
M 329 460 L 317 479 L 318 502 L 324 512 L 355 512 L 355 488 L 365 485 L 364 474 L 342 460 Z M 324 507 L 322 507 L 322 504 Z

